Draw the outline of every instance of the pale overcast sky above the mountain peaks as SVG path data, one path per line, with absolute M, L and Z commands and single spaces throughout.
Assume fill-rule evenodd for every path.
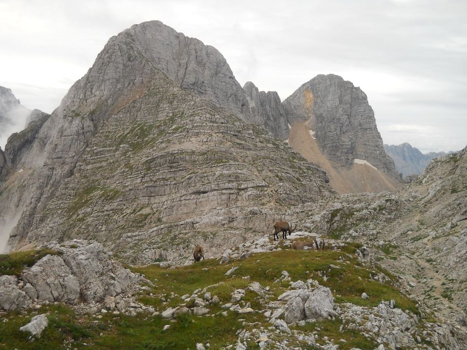
M 52 112 L 108 38 L 158 19 L 282 100 L 317 74 L 359 86 L 383 141 L 467 144 L 467 1 L 0 0 L 0 85 Z

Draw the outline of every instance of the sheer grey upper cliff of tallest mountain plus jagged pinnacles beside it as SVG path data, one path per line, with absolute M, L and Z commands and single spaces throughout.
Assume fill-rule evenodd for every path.
M 154 67 L 185 90 L 230 110 L 246 122 L 264 127 L 273 136 L 287 139 L 287 118 L 279 95 L 263 92 L 252 84 L 244 88 L 216 48 L 204 45 L 160 21 L 134 25 L 115 37 L 132 47 Z

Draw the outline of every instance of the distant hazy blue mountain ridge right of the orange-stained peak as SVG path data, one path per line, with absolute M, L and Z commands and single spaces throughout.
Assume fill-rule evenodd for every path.
M 384 145 L 386 153 L 393 158 L 395 168 L 402 176 L 420 174 L 431 159 L 446 156 L 445 152 L 421 153 L 418 148 L 412 147 L 410 143 L 400 145 Z M 452 152 L 449 152 L 452 153 Z

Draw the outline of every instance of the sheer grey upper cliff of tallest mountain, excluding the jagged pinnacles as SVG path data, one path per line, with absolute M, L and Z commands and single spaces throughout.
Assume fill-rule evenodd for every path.
M 237 116 L 248 117 L 243 89 L 216 48 L 160 21 L 133 25 L 117 38 L 132 40 L 145 59 L 181 88 L 225 105 Z

